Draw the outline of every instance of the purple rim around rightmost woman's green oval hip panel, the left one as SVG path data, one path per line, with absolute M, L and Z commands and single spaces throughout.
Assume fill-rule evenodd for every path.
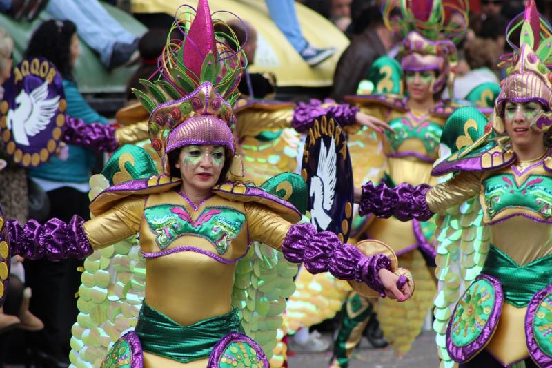
M 471 358 L 473 358 L 473 356 L 477 355 L 481 351 L 481 349 L 485 347 L 485 345 L 493 337 L 493 333 L 498 324 L 498 318 L 500 318 L 500 313 L 502 313 L 502 304 L 504 303 L 504 291 L 502 291 L 502 284 L 500 284 L 500 281 L 497 278 L 494 278 L 490 275 L 485 275 L 483 273 L 477 276 L 477 278 L 473 282 L 476 282 L 480 279 L 485 279 L 493 284 L 493 287 L 495 289 L 495 305 L 493 306 L 493 311 L 491 311 L 489 319 L 483 327 L 480 336 L 477 336 L 477 338 L 475 338 L 473 342 L 464 347 L 457 347 L 453 344 L 453 340 L 451 338 L 453 317 L 451 317 L 451 319 L 449 320 L 449 325 L 446 327 L 446 351 L 448 351 L 449 356 L 451 356 L 451 358 L 458 363 L 470 360 Z M 464 298 L 469 290 L 470 288 L 468 288 L 464 292 L 461 299 Z M 459 305 L 460 303 L 457 303 L 454 307 L 452 316 L 456 314 Z

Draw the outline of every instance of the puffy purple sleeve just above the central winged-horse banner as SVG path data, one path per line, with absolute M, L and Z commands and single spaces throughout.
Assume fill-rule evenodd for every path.
M 324 115 L 335 119 L 341 126 L 355 124 L 359 108 L 348 104 L 337 104 L 333 99 L 320 101 L 311 99 L 308 103 L 299 102 L 293 113 L 291 126 L 298 132 L 305 132 L 311 128 L 315 119 L 320 119 Z

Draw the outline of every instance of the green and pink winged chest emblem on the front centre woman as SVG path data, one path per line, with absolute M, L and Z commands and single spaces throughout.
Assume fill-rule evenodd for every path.
M 166 249 L 175 239 L 191 235 L 208 240 L 219 255 L 226 253 L 246 220 L 244 213 L 235 209 L 211 206 L 193 219 L 184 206 L 172 204 L 148 207 L 144 215 L 161 250 Z

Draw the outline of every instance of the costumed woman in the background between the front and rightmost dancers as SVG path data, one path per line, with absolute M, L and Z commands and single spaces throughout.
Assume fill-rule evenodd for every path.
M 398 5 L 402 18 L 393 25 L 389 17 Z M 355 185 L 366 180 L 383 180 L 390 186 L 400 182 L 420 184 L 430 179 L 442 127 L 446 118 L 458 107 L 457 104 L 441 101 L 440 95 L 446 86 L 452 86 L 454 77 L 457 57 L 451 39 L 466 29 L 466 6 L 462 5 L 449 6 L 442 1 L 426 1 L 417 3 L 413 8 L 410 1 L 394 1 L 384 8 L 386 24 L 404 32 L 400 65 L 388 57 L 375 61 L 372 69 L 377 70 L 371 70 L 371 74 L 374 75 L 377 93 L 346 97 L 346 101 L 359 107 L 348 108 L 347 113 L 336 117 L 348 135 Z M 455 17 L 460 16 L 462 22 L 448 23 L 445 10 L 451 10 Z M 401 84 L 406 88 L 401 88 Z M 402 90 L 406 90 L 408 97 L 402 96 Z M 312 105 L 296 109 L 294 123 L 298 130 L 308 128 L 315 118 L 313 115 L 317 109 Z M 385 132 L 377 129 L 382 136 L 374 139 L 375 133 L 355 124 L 354 119 L 348 119 L 355 111 L 362 114 L 361 122 L 380 122 L 379 128 L 384 127 L 383 122 L 386 122 L 390 128 Z M 379 147 L 380 142 L 383 142 L 383 150 Z M 366 155 L 373 152 L 380 152 L 385 159 L 380 162 L 366 159 Z M 374 169 L 377 169 L 375 175 Z M 382 301 L 378 313 L 386 339 L 400 354 L 406 353 L 420 334 L 436 291 L 431 269 L 435 257 L 431 244 L 433 229 L 433 222 L 402 224 L 393 217 L 385 220 L 357 217 L 353 220 L 352 236 L 383 240 L 415 273 L 415 302 L 397 308 Z M 354 292 L 350 294 L 343 307 L 344 322 L 335 343 L 333 365 L 346 367 L 372 310 L 373 304 L 366 298 Z M 397 318 L 406 315 L 408 320 Z

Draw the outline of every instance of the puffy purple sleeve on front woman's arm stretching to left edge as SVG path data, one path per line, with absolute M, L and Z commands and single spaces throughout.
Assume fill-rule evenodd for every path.
M 19 221 L 10 219 L 6 223 L 10 234 L 10 251 L 12 255 L 21 255 L 30 260 L 86 258 L 93 250 L 83 224 L 84 220 L 77 215 L 68 224 L 54 218 L 43 225 L 29 220 L 21 226 Z

